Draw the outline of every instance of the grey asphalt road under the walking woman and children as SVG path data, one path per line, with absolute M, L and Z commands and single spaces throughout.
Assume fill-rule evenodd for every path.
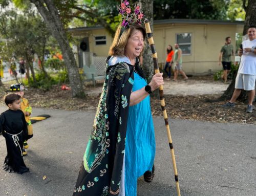
M 0 112 L 5 109 L 0 107 Z M 30 172 L 19 175 L 0 169 L 0 196 L 72 195 L 95 112 L 34 108 L 32 116 L 38 114 L 52 117 L 33 124 L 34 137 L 24 157 Z M 152 183 L 138 180 L 138 196 L 177 195 L 164 121 L 155 117 L 154 123 L 156 176 Z M 170 123 L 181 195 L 256 195 L 255 125 Z M 5 139 L 0 136 L 0 164 L 5 156 Z

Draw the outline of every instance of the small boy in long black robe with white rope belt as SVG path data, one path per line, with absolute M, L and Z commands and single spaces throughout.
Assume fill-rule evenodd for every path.
M 28 137 L 27 122 L 20 110 L 20 95 L 10 93 L 4 99 L 9 107 L 9 110 L 0 115 L 0 132 L 5 137 L 7 146 L 4 169 L 22 174 L 29 171 L 24 163 L 22 151 L 24 140 Z

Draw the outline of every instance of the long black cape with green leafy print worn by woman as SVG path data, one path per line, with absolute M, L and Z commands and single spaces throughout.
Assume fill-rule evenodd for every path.
M 118 195 L 134 66 L 108 65 L 73 196 Z

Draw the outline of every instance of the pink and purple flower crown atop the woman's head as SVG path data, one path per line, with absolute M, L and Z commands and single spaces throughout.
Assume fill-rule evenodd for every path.
M 144 18 L 140 6 L 135 4 L 134 9 L 132 8 L 127 0 L 122 1 L 119 6 L 120 23 L 124 28 L 129 28 L 129 25 L 142 24 Z

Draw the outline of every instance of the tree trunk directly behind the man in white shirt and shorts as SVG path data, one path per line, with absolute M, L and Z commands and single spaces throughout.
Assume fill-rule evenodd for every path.
M 249 26 L 256 25 L 256 1 L 255 0 L 248 0 L 248 4 L 246 8 L 246 15 L 245 15 L 245 23 L 244 23 L 244 30 L 243 35 L 247 34 L 247 30 Z M 237 76 L 237 74 L 236 74 Z M 232 82 L 229 84 L 227 90 L 222 94 L 222 96 L 218 100 L 226 100 L 232 97 L 234 91 L 234 83 L 236 81 L 236 77 L 232 79 Z M 256 88 L 256 85 L 255 85 Z M 246 91 L 242 91 L 241 95 L 238 97 L 238 100 L 242 102 L 248 101 L 248 95 Z

